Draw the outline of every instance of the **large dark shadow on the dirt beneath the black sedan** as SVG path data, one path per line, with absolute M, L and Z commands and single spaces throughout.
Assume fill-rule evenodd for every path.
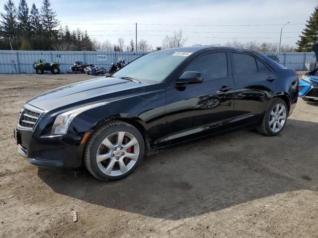
M 39 168 L 38 176 L 55 192 L 88 203 L 182 219 L 278 193 L 318 190 L 317 146 L 307 150 L 318 141 L 317 125 L 289 119 L 275 137 L 237 131 L 187 142 L 144 159 L 118 181 L 99 181 L 86 170 Z

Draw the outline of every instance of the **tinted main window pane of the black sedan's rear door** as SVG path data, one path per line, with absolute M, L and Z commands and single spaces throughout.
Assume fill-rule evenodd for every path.
M 257 73 L 255 58 L 250 55 L 232 53 L 237 74 Z

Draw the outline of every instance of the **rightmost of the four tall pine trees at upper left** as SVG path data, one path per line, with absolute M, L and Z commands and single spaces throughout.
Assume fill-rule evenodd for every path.
M 59 21 L 56 19 L 56 16 L 56 12 L 51 8 L 50 0 L 43 0 L 43 5 L 41 7 L 41 22 L 43 28 L 51 38 L 54 38 L 57 35 L 57 30 L 55 30 L 55 28 L 59 25 Z

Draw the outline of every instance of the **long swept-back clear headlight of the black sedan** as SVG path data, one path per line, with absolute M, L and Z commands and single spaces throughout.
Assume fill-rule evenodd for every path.
M 107 103 L 108 102 L 94 103 L 60 114 L 53 123 L 51 134 L 66 134 L 69 125 L 76 116 L 88 109 L 96 108 Z

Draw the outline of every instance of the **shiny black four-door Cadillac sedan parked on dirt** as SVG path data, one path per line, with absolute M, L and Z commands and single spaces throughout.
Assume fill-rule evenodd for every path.
M 14 132 L 33 165 L 114 180 L 159 147 L 235 128 L 277 135 L 297 97 L 296 73 L 256 52 L 168 49 L 30 99 Z

